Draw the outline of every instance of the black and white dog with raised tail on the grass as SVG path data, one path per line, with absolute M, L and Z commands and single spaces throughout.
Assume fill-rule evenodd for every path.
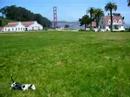
M 11 89 L 13 90 L 22 90 L 22 91 L 26 91 L 26 90 L 36 90 L 36 87 L 34 84 L 21 84 L 18 82 L 15 82 L 11 76 L 11 80 L 12 80 L 12 84 L 11 84 Z

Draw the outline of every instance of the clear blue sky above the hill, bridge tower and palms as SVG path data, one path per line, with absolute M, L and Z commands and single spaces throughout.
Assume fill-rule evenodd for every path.
M 0 0 L 0 7 L 17 5 L 25 7 L 34 13 L 40 13 L 52 20 L 52 8 L 58 7 L 58 20 L 77 21 L 86 13 L 89 7 L 102 8 L 107 2 L 115 2 L 118 10 L 125 16 L 125 22 L 130 24 L 130 7 L 127 0 Z M 105 12 L 107 14 L 107 12 Z

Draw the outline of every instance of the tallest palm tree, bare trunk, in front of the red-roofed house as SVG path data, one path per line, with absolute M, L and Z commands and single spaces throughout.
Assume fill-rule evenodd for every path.
M 111 17 L 111 31 L 113 31 L 113 18 L 112 18 L 112 11 L 117 10 L 117 5 L 115 3 L 109 2 L 105 6 L 106 11 L 110 11 L 110 17 Z

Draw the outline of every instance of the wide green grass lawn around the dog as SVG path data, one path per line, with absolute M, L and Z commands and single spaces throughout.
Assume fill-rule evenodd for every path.
M 0 97 L 130 97 L 130 33 L 1 33 Z

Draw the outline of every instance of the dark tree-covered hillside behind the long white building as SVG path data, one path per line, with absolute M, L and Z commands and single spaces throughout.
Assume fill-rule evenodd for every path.
M 30 10 L 15 5 L 6 6 L 0 9 L 1 18 L 13 21 L 37 21 L 43 27 L 51 27 L 51 21 L 41 14 L 35 14 Z

